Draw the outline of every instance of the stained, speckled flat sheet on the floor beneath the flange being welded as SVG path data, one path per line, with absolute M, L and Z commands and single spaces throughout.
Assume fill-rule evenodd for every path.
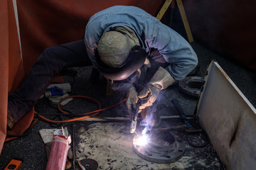
M 222 169 L 218 156 L 208 147 L 186 143 L 181 159 L 156 164 L 139 157 L 132 149 L 134 134 L 127 123 L 78 123 L 75 125 L 75 159 L 94 159 L 98 169 Z

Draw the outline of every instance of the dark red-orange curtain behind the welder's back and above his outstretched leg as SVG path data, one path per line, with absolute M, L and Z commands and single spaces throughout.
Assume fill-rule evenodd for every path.
M 46 47 L 82 40 L 87 21 L 93 14 L 110 6 L 125 5 L 138 6 L 156 16 L 162 1 L 17 1 L 25 72 L 28 72 Z

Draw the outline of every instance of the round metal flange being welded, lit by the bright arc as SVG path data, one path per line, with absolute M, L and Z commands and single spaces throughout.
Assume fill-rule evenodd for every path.
M 180 137 L 166 130 L 150 134 L 146 145 L 141 145 L 139 138 L 135 136 L 133 139 L 134 152 L 149 162 L 160 164 L 176 162 L 185 152 L 185 144 Z

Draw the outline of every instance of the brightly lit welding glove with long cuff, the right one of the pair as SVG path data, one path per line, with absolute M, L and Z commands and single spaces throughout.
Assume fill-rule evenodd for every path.
M 139 106 L 139 110 L 152 106 L 159 96 L 159 92 L 174 83 L 175 79 L 171 77 L 171 74 L 163 67 L 159 67 L 149 83 L 138 95 L 138 98 L 146 98 L 146 102 Z

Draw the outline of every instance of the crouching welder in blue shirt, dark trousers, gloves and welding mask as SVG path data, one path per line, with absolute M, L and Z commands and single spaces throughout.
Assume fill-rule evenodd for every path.
M 161 90 L 186 77 L 198 63 L 189 43 L 174 30 L 141 8 L 112 6 L 90 18 L 85 39 L 49 47 L 41 53 L 26 79 L 9 95 L 8 126 L 22 118 L 65 67 L 92 65 L 113 84 L 129 84 L 127 108 L 151 106 Z M 145 86 L 134 82 L 148 67 Z

